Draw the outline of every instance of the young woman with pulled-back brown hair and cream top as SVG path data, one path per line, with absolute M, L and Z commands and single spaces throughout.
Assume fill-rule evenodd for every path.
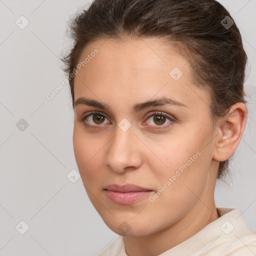
M 94 0 L 70 28 L 75 159 L 119 235 L 100 255 L 255 255 L 241 211 L 214 203 L 247 113 L 229 12 L 215 0 Z

